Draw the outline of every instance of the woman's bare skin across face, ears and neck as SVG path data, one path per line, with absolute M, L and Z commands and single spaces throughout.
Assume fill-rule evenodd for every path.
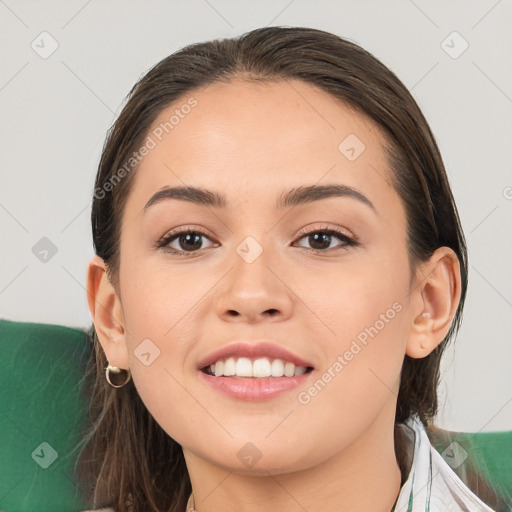
M 411 275 L 406 216 L 389 185 L 384 138 L 338 100 L 300 81 L 241 79 L 193 96 L 197 107 L 134 177 L 119 288 L 100 258 L 89 265 L 89 307 L 107 358 L 130 368 L 150 413 L 183 446 L 199 512 L 387 512 L 400 486 L 393 428 L 403 357 L 425 357 L 446 335 L 460 298 L 457 258 L 439 248 Z M 338 149 L 349 134 L 366 146 L 355 161 Z M 185 184 L 223 193 L 228 207 L 173 199 L 143 212 L 159 189 Z M 275 209 L 282 191 L 314 184 L 353 187 L 375 210 L 352 197 Z M 172 247 L 185 257 L 155 248 L 166 233 L 187 227 L 207 234 L 203 248 L 191 255 L 178 239 Z M 300 230 L 326 227 L 359 245 L 333 236 L 328 249 L 313 251 Z M 236 251 L 247 236 L 263 249 L 253 263 Z M 300 403 L 298 393 L 394 303 L 401 311 Z M 149 366 L 134 353 L 147 338 L 160 350 Z M 204 384 L 198 362 L 241 338 L 267 339 L 310 361 L 307 384 L 264 402 Z M 247 442 L 261 453 L 252 468 L 237 457 Z

